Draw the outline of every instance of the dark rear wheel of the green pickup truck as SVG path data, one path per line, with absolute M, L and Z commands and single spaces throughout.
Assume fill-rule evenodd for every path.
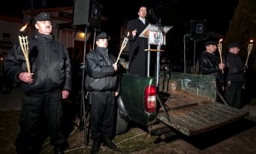
M 117 110 L 117 116 L 116 116 L 116 128 L 115 128 L 115 134 L 123 134 L 128 130 L 128 123 L 125 122 L 122 117 L 120 117 L 119 109 Z

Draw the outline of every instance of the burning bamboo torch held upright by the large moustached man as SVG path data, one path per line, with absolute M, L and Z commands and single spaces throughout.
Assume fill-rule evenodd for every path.
M 27 72 L 29 74 L 31 74 L 30 71 L 30 65 L 29 65 L 29 59 L 28 59 L 28 52 L 29 52 L 29 48 L 28 48 L 28 41 L 27 41 L 27 36 L 25 33 L 25 29 L 26 29 L 27 23 L 25 26 L 23 26 L 20 29 L 20 36 L 19 36 L 19 41 L 20 41 L 20 48 L 24 54 L 25 60 L 26 60 L 26 67 L 27 67 Z

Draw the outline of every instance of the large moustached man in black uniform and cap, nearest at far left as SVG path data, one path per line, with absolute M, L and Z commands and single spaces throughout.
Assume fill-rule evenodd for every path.
M 31 74 L 25 56 L 16 44 L 4 60 L 5 71 L 23 92 L 20 134 L 15 140 L 19 154 L 38 154 L 49 135 L 55 153 L 64 153 L 65 138 L 61 133 L 61 100 L 67 99 L 72 87 L 71 65 L 61 43 L 54 40 L 49 13 L 35 18 L 34 37 L 28 37 Z

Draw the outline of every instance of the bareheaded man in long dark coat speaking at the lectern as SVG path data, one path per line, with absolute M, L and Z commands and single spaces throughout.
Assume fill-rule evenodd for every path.
M 130 20 L 125 28 L 125 37 L 129 32 L 129 73 L 146 76 L 148 38 L 139 37 L 143 30 L 149 25 L 146 19 L 147 8 L 142 6 L 138 10 L 138 18 Z

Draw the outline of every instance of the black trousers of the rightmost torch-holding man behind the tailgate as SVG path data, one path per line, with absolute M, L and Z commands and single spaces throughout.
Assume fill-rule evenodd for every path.
M 241 108 L 241 86 L 242 82 L 229 82 L 225 93 L 225 99 L 230 106 Z

